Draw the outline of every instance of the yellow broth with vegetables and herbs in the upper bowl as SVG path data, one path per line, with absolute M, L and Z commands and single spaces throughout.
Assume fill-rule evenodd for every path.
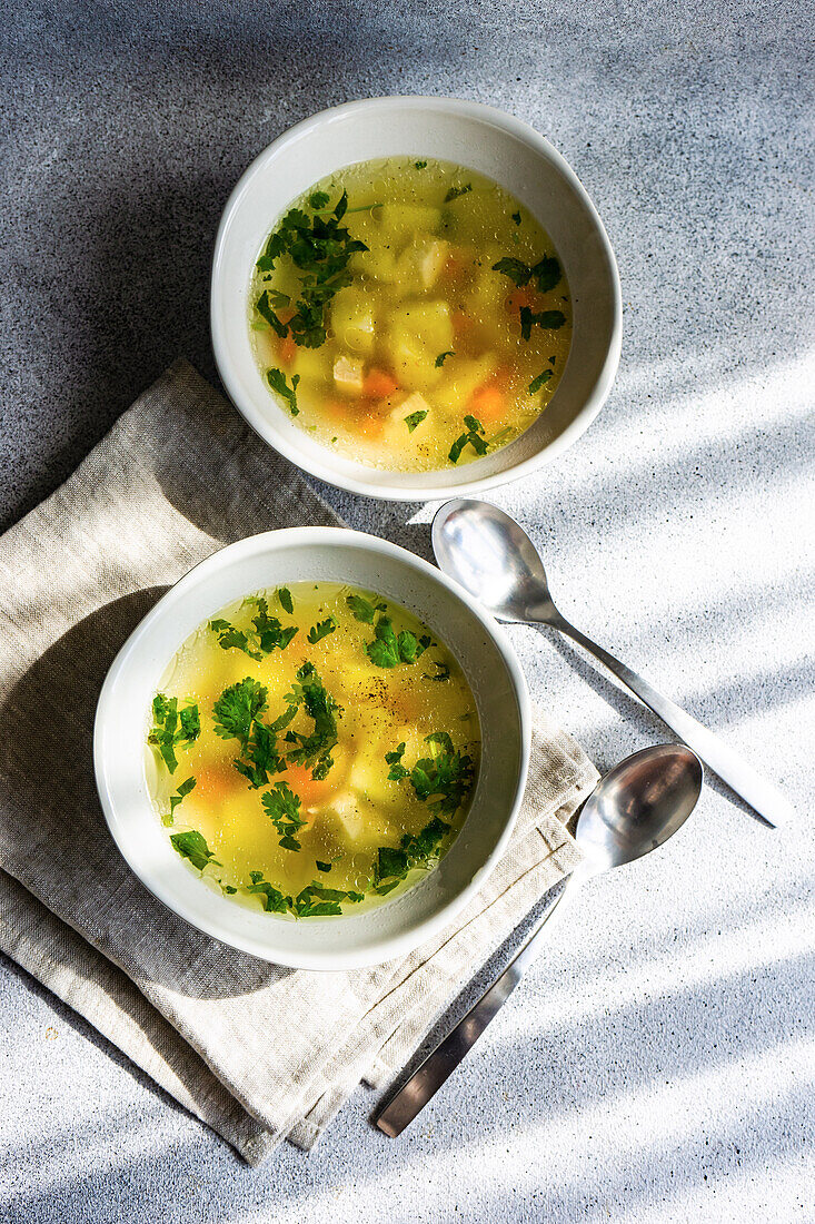
M 368 466 L 427 471 L 507 446 L 546 409 L 571 341 L 569 286 L 503 187 L 388 158 L 292 209 L 259 252 L 250 327 L 270 403 L 301 428 Z

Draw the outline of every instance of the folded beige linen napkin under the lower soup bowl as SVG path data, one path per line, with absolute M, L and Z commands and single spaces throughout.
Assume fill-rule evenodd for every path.
M 247 1160 L 310 1147 L 362 1078 L 384 1083 L 579 853 L 563 821 L 597 774 L 536 717 L 509 848 L 459 920 L 411 956 L 292 972 L 186 925 L 131 874 L 97 802 L 104 674 L 166 585 L 215 548 L 337 524 L 186 362 L 0 540 L 0 947 Z

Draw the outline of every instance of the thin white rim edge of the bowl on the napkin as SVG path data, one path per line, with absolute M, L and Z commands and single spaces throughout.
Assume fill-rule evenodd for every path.
M 126 841 L 124 837 L 124 821 L 116 812 L 116 804 L 111 797 L 108 781 L 109 747 L 106 743 L 106 721 L 109 717 L 114 690 L 121 673 L 130 663 L 130 657 L 133 650 L 144 638 L 149 636 L 154 622 L 160 617 L 164 617 L 168 613 L 168 608 L 171 608 L 171 606 L 179 600 L 185 599 L 186 595 L 195 589 L 197 581 L 202 577 L 206 577 L 208 572 L 217 570 L 224 564 L 226 554 L 229 556 L 229 559 L 234 559 L 241 554 L 251 556 L 252 552 L 256 551 L 257 556 L 262 557 L 267 554 L 269 547 L 274 551 L 291 545 L 313 547 L 316 545 L 327 543 L 332 547 L 339 548 L 345 546 L 361 547 L 370 552 L 378 553 L 379 556 L 388 556 L 398 563 L 419 570 L 419 573 L 422 573 L 431 580 L 438 583 L 438 585 L 445 588 L 453 596 L 467 607 L 492 639 L 507 668 L 518 706 L 520 760 L 514 791 L 507 803 L 507 820 L 501 836 L 498 837 L 492 852 L 472 873 L 470 881 L 456 896 L 452 897 L 445 905 L 441 906 L 441 908 L 437 909 L 431 917 L 416 923 L 415 925 L 408 927 L 400 934 L 393 935 L 389 939 L 368 942 L 365 947 L 356 950 L 332 950 L 327 952 L 306 951 L 299 953 L 285 949 L 274 949 L 274 928 L 272 925 L 269 927 L 272 938 L 268 941 L 251 935 L 234 936 L 233 933 L 225 935 L 218 922 L 207 919 L 202 920 L 199 914 L 192 914 L 186 903 L 175 896 L 173 889 L 166 885 L 165 881 L 154 879 L 149 870 L 144 868 L 143 863 L 136 863 L 131 859 L 125 848 Z M 489 616 L 489 613 L 486 612 L 486 610 L 483 610 L 475 600 L 472 600 L 463 586 L 448 578 L 422 557 L 409 552 L 400 545 L 392 543 L 388 540 L 382 540 L 378 536 L 370 535 L 368 532 L 354 531 L 350 528 L 341 526 L 280 528 L 273 531 L 263 531 L 253 536 L 246 536 L 230 545 L 225 545 L 214 553 L 210 553 L 203 561 L 197 562 L 197 564 L 192 565 L 191 569 L 188 569 L 176 583 L 173 584 L 173 586 L 170 586 L 168 591 L 165 591 L 165 594 L 153 605 L 151 611 L 142 617 L 136 628 L 127 636 L 108 670 L 97 701 L 93 726 L 93 767 L 97 793 L 99 796 L 99 802 L 110 836 L 113 837 L 119 853 L 130 870 L 143 884 L 148 892 L 151 892 L 168 909 L 182 918 L 196 930 L 203 931 L 203 934 L 209 935 L 230 947 L 235 947 L 242 952 L 248 952 L 259 960 L 274 965 L 283 965 L 290 968 L 322 971 L 362 968 L 366 966 L 381 965 L 394 957 L 405 956 L 414 951 L 420 944 L 432 939 L 439 930 L 449 925 L 465 908 L 475 894 L 483 887 L 507 849 L 507 845 L 513 834 L 513 829 L 515 827 L 518 813 L 524 798 L 531 755 L 531 699 L 526 677 L 507 634 Z M 312 922 L 321 920 L 334 922 L 335 919 L 312 919 Z

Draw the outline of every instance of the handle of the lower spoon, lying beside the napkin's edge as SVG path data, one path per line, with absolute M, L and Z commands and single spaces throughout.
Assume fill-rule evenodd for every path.
M 376 1120 L 381 1131 L 384 1131 L 390 1138 L 401 1135 L 405 1126 L 412 1122 L 416 1114 L 425 1108 L 431 1097 L 434 1097 L 442 1084 L 447 1082 L 524 977 L 530 963 L 537 956 L 543 934 L 546 933 L 548 938 L 557 925 L 553 916 L 557 914 L 558 919 L 563 916 L 567 908 L 563 905 L 563 898 L 569 896 L 571 901 L 578 885 L 578 878 L 573 876 L 565 889 L 558 894 L 554 903 L 538 918 L 507 968 L 485 990 L 478 1001 L 450 1029 L 447 1037 L 442 1038 L 436 1049 L 414 1071 L 410 1080 L 403 1084 L 396 1095 L 392 1097 Z M 568 908 L 570 908 L 570 905 Z

